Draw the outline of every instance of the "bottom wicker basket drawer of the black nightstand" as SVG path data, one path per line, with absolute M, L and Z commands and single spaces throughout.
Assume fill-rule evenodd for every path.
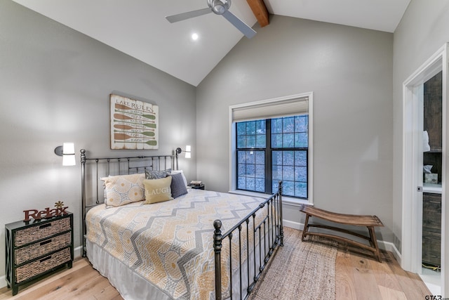
M 70 260 L 72 260 L 70 248 L 62 249 L 60 252 L 56 252 L 53 255 L 49 255 L 38 261 L 32 261 L 25 266 L 16 268 L 15 280 L 17 283 L 25 281 Z

